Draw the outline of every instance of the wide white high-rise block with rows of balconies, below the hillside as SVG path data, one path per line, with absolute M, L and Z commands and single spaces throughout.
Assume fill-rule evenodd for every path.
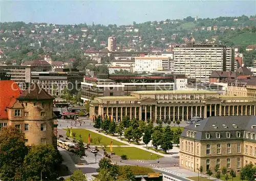
M 208 82 L 212 71 L 234 71 L 233 48 L 220 44 L 188 43 L 174 48 L 174 73 Z

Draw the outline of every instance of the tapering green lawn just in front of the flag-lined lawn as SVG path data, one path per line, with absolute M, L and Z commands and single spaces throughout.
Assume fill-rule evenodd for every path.
M 110 147 L 105 148 L 106 151 L 110 152 Z M 151 153 L 149 151 L 145 151 L 136 147 L 113 147 L 113 152 L 116 155 L 121 156 L 122 154 L 127 155 L 127 158 L 130 160 L 156 160 L 163 156 L 157 155 L 155 153 Z M 151 156 L 152 154 L 152 156 Z

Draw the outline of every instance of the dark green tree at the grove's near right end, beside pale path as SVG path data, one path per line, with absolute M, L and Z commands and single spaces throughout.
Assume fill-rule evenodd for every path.
M 167 152 L 167 150 L 173 149 L 173 143 L 172 143 L 173 134 L 174 133 L 172 130 L 170 130 L 169 126 L 166 126 L 164 128 L 163 136 L 160 144 L 163 151 Z

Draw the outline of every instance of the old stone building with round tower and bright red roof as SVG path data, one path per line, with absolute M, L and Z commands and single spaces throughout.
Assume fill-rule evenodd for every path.
M 15 126 L 25 133 L 26 145 L 56 145 L 53 97 L 37 84 L 21 92 L 14 81 L 0 81 L 0 128 Z

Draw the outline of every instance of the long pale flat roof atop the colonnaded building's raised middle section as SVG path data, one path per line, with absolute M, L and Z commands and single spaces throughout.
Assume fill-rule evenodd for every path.
M 209 90 L 140 90 L 132 92 L 135 94 L 218 94 Z

